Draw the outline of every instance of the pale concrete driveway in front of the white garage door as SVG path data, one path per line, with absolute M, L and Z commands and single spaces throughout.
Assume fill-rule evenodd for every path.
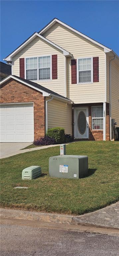
M 13 143 L 0 143 L 0 158 L 2 158 L 5 155 L 12 154 L 14 152 L 17 152 L 18 150 L 25 148 L 32 143 L 28 142 L 13 142 Z

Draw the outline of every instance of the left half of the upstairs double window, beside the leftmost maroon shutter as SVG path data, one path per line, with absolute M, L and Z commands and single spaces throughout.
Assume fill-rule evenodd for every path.
M 37 57 L 26 58 L 26 79 L 37 80 Z

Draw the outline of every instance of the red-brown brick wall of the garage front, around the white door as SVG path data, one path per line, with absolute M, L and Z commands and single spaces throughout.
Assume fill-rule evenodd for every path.
M 45 135 L 45 97 L 42 93 L 10 79 L 1 86 L 0 103 L 34 102 L 34 139 Z

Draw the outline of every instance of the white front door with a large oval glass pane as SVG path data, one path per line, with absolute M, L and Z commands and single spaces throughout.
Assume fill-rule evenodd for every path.
M 74 108 L 74 138 L 88 139 L 88 108 Z

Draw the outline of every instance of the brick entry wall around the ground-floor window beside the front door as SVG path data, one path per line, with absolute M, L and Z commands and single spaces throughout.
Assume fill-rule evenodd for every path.
M 89 109 L 89 140 L 103 140 L 103 130 L 92 130 L 92 106 L 103 106 L 103 103 L 74 104 L 74 107 L 88 107 Z M 109 103 L 106 103 L 106 140 L 109 140 Z

